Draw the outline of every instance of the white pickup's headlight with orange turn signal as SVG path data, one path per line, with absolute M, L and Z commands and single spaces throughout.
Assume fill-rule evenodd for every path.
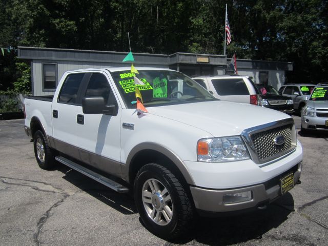
M 240 136 L 203 138 L 197 143 L 198 161 L 228 162 L 249 159 Z

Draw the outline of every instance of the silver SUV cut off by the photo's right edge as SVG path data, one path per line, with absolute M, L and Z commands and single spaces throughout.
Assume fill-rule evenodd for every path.
M 328 84 L 317 85 L 301 112 L 301 131 L 328 131 Z

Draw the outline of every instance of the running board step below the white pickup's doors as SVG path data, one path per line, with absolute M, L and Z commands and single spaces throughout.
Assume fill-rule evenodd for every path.
M 64 165 L 76 170 L 77 172 L 80 172 L 86 176 L 88 176 L 89 178 L 92 178 L 94 180 L 96 180 L 99 183 L 102 183 L 104 186 L 107 186 L 108 188 L 118 192 L 118 193 L 127 193 L 129 192 L 129 189 L 127 187 L 122 186 L 120 183 L 115 182 L 114 180 L 111 180 L 107 177 L 104 177 L 103 175 L 100 175 L 98 173 L 95 173 L 85 167 L 82 167 L 80 165 L 78 165 L 77 163 L 66 159 L 63 156 L 56 156 L 55 158 L 57 161 L 59 161 L 60 163 L 63 163 Z

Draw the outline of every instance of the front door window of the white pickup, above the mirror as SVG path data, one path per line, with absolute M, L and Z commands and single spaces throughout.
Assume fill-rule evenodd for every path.
M 101 96 L 104 97 L 106 103 L 108 103 L 110 92 L 111 88 L 105 75 L 101 73 L 93 73 L 90 77 L 85 96 Z

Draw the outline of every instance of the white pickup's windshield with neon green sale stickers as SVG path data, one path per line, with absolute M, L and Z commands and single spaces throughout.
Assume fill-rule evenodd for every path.
M 127 108 L 136 107 L 136 88 L 146 107 L 218 100 L 209 91 L 180 72 L 141 69 L 138 72 L 139 74 L 131 73 L 131 71 L 111 72 Z

